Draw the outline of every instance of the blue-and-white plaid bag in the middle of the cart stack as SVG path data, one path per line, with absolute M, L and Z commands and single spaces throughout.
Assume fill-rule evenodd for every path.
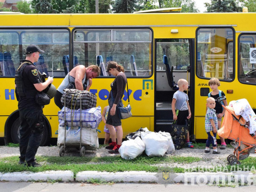
M 65 110 L 66 110 L 66 121 L 68 126 L 80 126 L 80 120 L 82 126 L 91 127 L 95 129 L 99 126 L 99 123 L 102 120 L 101 108 L 91 108 L 86 110 L 71 110 L 69 108 L 62 108 L 58 112 L 59 125 L 65 126 Z M 80 113 L 81 112 L 81 113 Z

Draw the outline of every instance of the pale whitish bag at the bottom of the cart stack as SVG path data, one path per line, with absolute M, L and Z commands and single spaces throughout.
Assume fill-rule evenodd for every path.
M 57 145 L 64 144 L 65 140 L 65 128 L 64 126 L 59 125 L 58 129 L 58 140 Z M 66 144 L 80 144 L 80 131 L 79 127 L 67 127 L 66 128 Z M 82 145 L 86 145 L 86 150 L 97 150 L 99 147 L 98 141 L 98 132 L 96 129 L 91 129 L 88 127 L 82 127 L 82 136 L 81 136 Z

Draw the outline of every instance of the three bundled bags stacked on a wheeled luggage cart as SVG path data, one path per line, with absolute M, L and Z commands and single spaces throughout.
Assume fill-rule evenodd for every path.
M 58 112 L 59 156 L 65 154 L 67 147 L 79 148 L 80 157 L 85 155 L 86 150 L 97 150 L 96 128 L 102 119 L 100 106 L 96 108 L 97 97 L 89 91 L 65 89 L 61 103 L 64 106 Z

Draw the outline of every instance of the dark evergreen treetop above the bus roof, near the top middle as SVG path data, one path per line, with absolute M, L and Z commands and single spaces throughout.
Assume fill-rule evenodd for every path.
M 113 5 L 114 13 L 133 13 L 138 7 L 136 0 L 116 0 Z

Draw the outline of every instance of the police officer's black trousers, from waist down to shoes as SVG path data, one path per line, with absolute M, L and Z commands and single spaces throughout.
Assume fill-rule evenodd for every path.
M 19 159 L 26 160 L 28 164 L 35 161 L 35 154 L 41 142 L 42 132 L 35 131 L 36 123 L 40 123 L 40 111 L 42 111 L 40 106 L 19 109 Z

